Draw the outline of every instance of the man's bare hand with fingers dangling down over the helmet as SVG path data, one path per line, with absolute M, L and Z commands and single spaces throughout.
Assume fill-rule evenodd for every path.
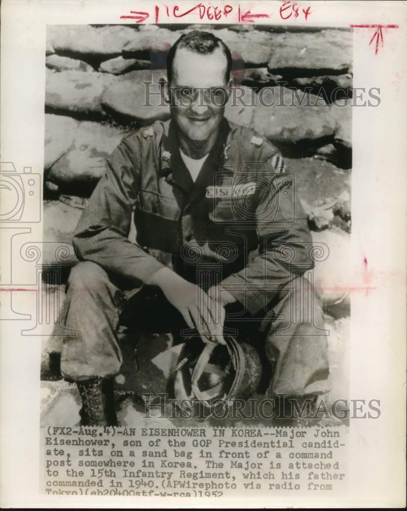
M 223 338 L 223 323 L 225 321 L 224 305 L 195 284 L 191 284 L 170 268 L 161 268 L 150 280 L 149 285 L 158 286 L 166 299 L 184 318 L 190 328 L 196 328 L 204 342 L 220 342 Z M 213 288 L 211 288 L 213 289 Z

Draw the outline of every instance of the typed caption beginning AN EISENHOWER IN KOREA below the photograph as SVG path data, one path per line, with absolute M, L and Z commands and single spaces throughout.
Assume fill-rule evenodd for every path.
M 214 497 L 347 484 L 347 428 L 44 427 L 47 495 Z

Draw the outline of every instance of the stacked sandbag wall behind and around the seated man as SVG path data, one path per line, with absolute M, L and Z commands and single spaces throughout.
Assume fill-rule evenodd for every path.
M 142 106 L 143 81 L 165 74 L 165 52 L 185 27 L 52 26 L 47 32 L 44 159 L 44 241 L 70 243 L 87 198 L 105 170 L 105 160 L 123 136 L 157 119 L 168 119 L 166 107 Z M 207 28 L 206 28 L 207 30 Z M 317 261 L 314 284 L 321 296 L 332 391 L 329 399 L 348 395 L 350 298 L 347 283 L 350 250 L 351 180 L 351 33 L 344 30 L 285 32 L 265 27 L 211 28 L 232 51 L 235 86 L 254 100 L 267 103 L 284 97 L 291 106 L 231 106 L 226 117 L 251 126 L 279 147 L 288 172 L 295 174 L 304 210 L 317 246 L 329 257 Z M 332 104 L 331 93 L 341 87 Z M 293 95 L 293 92 L 295 94 Z M 303 95 L 306 98 L 303 98 Z M 315 106 L 304 106 L 306 99 Z M 318 101 L 316 101 L 318 100 Z M 325 244 L 325 245 L 323 245 Z M 44 253 L 53 263 L 55 252 Z M 63 278 L 75 259 L 62 262 Z M 49 292 L 63 294 L 63 284 Z M 42 355 L 42 421 L 75 424 L 79 400 L 74 385 L 61 380 L 60 336 L 44 339 Z M 123 335 L 129 351 L 117 378 L 122 392 L 121 419 L 139 416 L 128 391 L 165 391 L 179 346 L 171 336 L 141 338 Z M 129 397 L 130 396 L 130 397 Z

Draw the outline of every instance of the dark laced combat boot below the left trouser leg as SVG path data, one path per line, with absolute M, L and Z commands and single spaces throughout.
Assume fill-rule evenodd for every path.
M 82 399 L 81 426 L 117 426 L 113 379 L 77 382 Z

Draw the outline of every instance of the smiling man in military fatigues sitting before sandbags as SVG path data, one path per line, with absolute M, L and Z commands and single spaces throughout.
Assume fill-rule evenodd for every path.
M 258 336 L 275 364 L 273 395 L 303 397 L 327 378 L 321 309 L 301 276 L 313 267 L 306 218 L 277 149 L 224 117 L 231 66 L 213 34 L 178 39 L 162 86 L 171 120 L 124 138 L 79 221 L 81 262 L 65 307 L 76 335 L 64 341 L 61 371 L 78 384 L 83 424 L 116 424 L 122 321 L 224 342 L 233 310 L 244 319 L 238 329 Z M 309 297 L 313 320 L 295 320 Z

